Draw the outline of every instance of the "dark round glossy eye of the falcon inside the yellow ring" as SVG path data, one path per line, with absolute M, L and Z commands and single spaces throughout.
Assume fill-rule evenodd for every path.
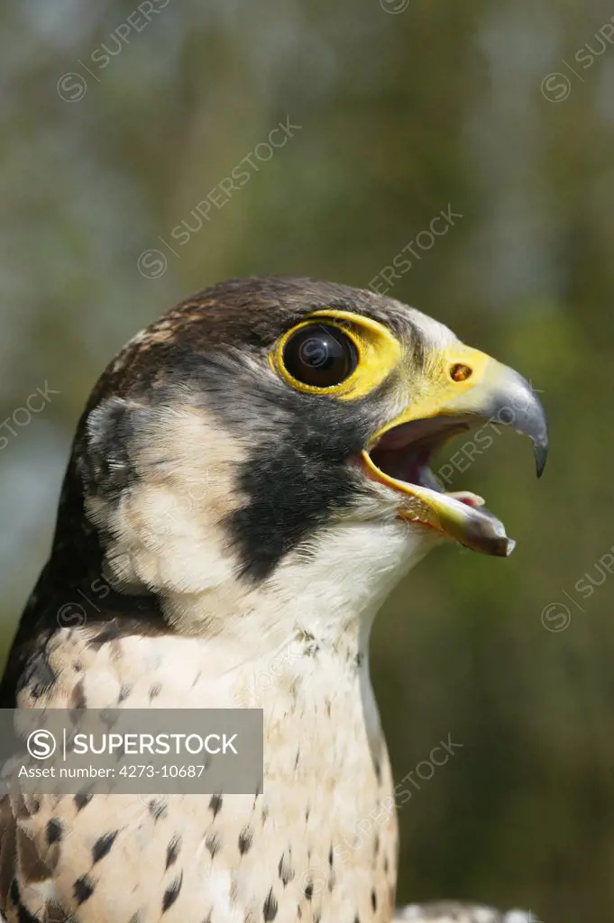
M 337 327 L 308 324 L 288 337 L 283 365 L 304 385 L 331 388 L 348 378 L 358 365 L 354 343 Z

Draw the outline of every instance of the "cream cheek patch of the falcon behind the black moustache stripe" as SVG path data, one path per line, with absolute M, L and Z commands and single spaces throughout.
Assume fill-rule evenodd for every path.
M 119 497 L 86 496 L 117 590 L 202 593 L 232 577 L 222 522 L 240 504 L 238 443 L 203 411 L 151 410 L 130 445 L 133 476 Z

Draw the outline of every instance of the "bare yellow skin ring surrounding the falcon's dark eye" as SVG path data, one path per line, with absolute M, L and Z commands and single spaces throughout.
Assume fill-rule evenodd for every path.
M 358 362 L 355 370 L 341 384 L 329 388 L 318 388 L 307 385 L 293 378 L 283 366 L 283 348 L 288 339 L 297 330 L 307 327 L 314 320 L 320 320 L 343 330 L 343 333 L 354 342 Z M 292 330 L 283 334 L 269 356 L 271 367 L 293 388 L 307 391 L 311 394 L 333 394 L 342 401 L 355 401 L 365 397 L 378 387 L 391 372 L 399 366 L 403 356 L 401 343 L 377 320 L 365 318 L 352 311 L 322 310 L 314 311 Z

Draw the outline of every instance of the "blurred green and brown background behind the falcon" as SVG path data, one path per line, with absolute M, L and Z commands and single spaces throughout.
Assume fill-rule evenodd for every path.
M 395 776 L 449 733 L 463 744 L 400 811 L 400 901 L 614 920 L 613 16 L 594 0 L 0 10 L 5 650 L 78 414 L 126 339 L 234 275 L 367 287 L 440 210 L 463 216 L 418 238 L 390 294 L 530 378 L 551 452 L 538 483 L 505 433 L 455 474 L 514 555 L 439 549 L 379 616 Z M 286 116 L 293 137 L 255 154 Z M 223 200 L 247 156 L 258 169 Z

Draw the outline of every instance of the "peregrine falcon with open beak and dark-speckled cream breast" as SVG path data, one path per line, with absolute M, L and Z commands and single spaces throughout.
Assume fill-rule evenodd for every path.
M 5 797 L 9 923 L 390 923 L 369 630 L 442 540 L 512 551 L 483 499 L 429 467 L 486 420 L 527 435 L 541 473 L 524 378 L 340 284 L 223 282 L 126 344 L 78 423 L 0 704 L 260 708 L 264 790 Z

